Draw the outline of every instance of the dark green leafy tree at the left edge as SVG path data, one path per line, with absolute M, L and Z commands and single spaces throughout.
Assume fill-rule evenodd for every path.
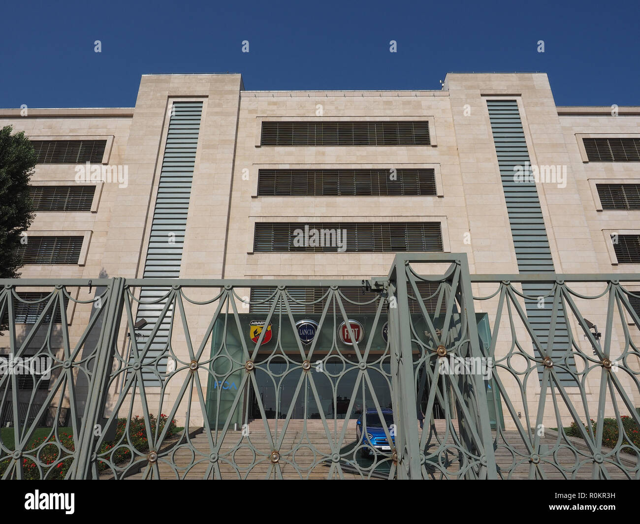
M 0 278 L 19 278 L 21 235 L 35 217 L 29 179 L 37 157 L 24 132 L 12 131 L 0 130 Z

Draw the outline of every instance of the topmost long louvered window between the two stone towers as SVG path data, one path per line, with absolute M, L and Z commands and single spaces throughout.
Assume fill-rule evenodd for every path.
M 430 145 L 429 122 L 262 122 L 261 145 Z

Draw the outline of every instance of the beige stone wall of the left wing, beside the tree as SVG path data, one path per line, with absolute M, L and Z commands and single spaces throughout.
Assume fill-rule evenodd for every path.
M 131 126 L 132 108 L 108 109 L 2 109 L 0 110 L 0 127 L 11 125 L 13 131 L 24 131 L 31 139 L 40 140 L 72 140 L 72 139 L 105 139 L 107 147 L 102 164 L 118 166 L 124 164 L 129 128 Z M 22 116 L 24 115 L 24 116 Z M 76 164 L 36 164 L 35 173 L 31 177 L 33 186 L 75 186 Z M 102 257 L 107 250 L 106 242 L 112 224 L 112 210 L 118 195 L 122 191 L 118 183 L 86 182 L 96 186 L 91 211 L 83 212 L 37 212 L 27 239 L 30 236 L 79 235 L 83 236 L 83 250 L 79 264 L 68 265 L 33 265 L 22 269 L 22 278 L 97 278 L 102 267 Z M 23 288 L 22 291 L 38 291 L 44 288 Z M 51 289 L 46 289 L 51 291 Z M 95 291 L 95 287 L 93 288 Z M 72 299 L 90 298 L 89 294 L 68 288 Z M 71 301 L 67 310 L 71 322 L 70 340 L 76 343 L 86 327 L 91 308 L 76 305 Z M 17 341 L 20 343 L 31 326 L 17 325 Z M 30 347 L 40 347 L 46 339 L 44 332 L 38 333 Z M 0 337 L 0 353 L 10 353 L 9 337 Z M 54 331 L 51 339 L 52 351 L 57 355 L 62 352 L 60 331 Z M 33 351 L 31 351 L 33 353 Z M 52 381 L 59 370 L 52 373 Z M 31 392 L 20 391 L 24 400 L 28 401 Z M 35 402 L 42 401 L 46 392 L 36 392 Z M 68 398 L 62 400 L 67 404 Z

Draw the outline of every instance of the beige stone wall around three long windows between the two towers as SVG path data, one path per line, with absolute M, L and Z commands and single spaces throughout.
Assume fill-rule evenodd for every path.
M 260 147 L 260 125 L 273 120 L 428 120 L 432 145 Z M 257 196 L 260 169 L 424 167 L 442 177 L 440 196 Z M 260 221 L 440 221 L 445 250 L 468 251 L 461 189 L 447 93 L 243 91 L 225 277 L 362 278 L 386 274 L 393 258 L 392 253 L 253 253 L 253 230 Z

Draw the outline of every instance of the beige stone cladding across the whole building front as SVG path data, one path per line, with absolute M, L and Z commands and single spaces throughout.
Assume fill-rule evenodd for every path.
M 180 278 L 357 279 L 386 275 L 394 253 L 254 253 L 253 234 L 260 222 L 436 221 L 442 227 L 445 252 L 467 253 L 472 274 L 518 273 L 511 226 L 500 181 L 487 100 L 516 100 L 531 164 L 566 168 L 566 184 L 539 182 L 540 205 L 556 273 L 638 273 L 640 264 L 618 264 L 610 244 L 613 232 L 640 232 L 639 210 L 602 210 L 596 191 L 599 181 L 636 182 L 640 163 L 586 161 L 585 136 L 640 136 L 638 108 L 557 107 L 546 74 L 447 74 L 441 91 L 245 91 L 239 74 L 143 75 L 134 108 L 0 110 L 0 125 L 11 124 L 36 139 L 106 138 L 103 163 L 126 166 L 122 187 L 97 184 L 90 212 L 38 212 L 29 235 L 84 236 L 79 264 L 29 265 L 24 278 L 141 278 L 147 254 L 170 108 L 174 101 L 203 103 L 193 185 L 189 202 Z M 426 120 L 431 145 L 401 147 L 272 147 L 260 145 L 262 122 L 269 121 Z M 72 164 L 38 164 L 32 184 L 75 184 Z M 257 196 L 260 169 L 276 168 L 433 168 L 436 196 Z M 597 294 L 593 285 L 576 290 Z M 640 283 L 631 289 L 640 290 Z M 496 284 L 474 285 L 479 295 Z M 94 296 L 70 289 L 72 298 Z M 248 292 L 248 290 L 239 290 Z M 185 300 L 202 301 L 212 290 L 188 289 Z M 495 299 L 477 302 L 495 322 Z M 604 329 L 602 301 L 580 302 L 584 317 Z M 204 344 L 214 312 L 212 305 L 186 304 L 189 337 L 197 349 Z M 90 318 L 90 305 L 69 308 L 72 344 Z M 135 314 L 135 308 L 134 308 Z M 182 364 L 189 362 L 182 322 L 174 310 L 173 350 Z M 123 315 L 124 316 L 124 315 Z M 568 322 L 577 344 L 590 349 L 573 317 Z M 625 341 L 616 320 L 611 354 L 620 354 Z M 637 329 L 628 326 L 632 335 Z M 118 351 L 125 356 L 125 322 L 118 333 Z M 516 326 L 520 340 L 524 327 Z M 0 345 L 6 345 L 0 338 Z M 497 355 L 511 347 L 511 333 L 502 329 Z M 205 349 L 205 354 L 209 350 Z M 532 351 L 531 344 L 527 351 Z M 637 365 L 630 363 L 630 365 Z M 594 413 L 600 382 L 589 374 L 588 406 Z M 206 387 L 207 373 L 198 371 Z M 172 402 L 188 372 L 173 377 L 166 391 Z M 524 401 L 536 405 L 540 384 L 532 380 L 522 399 L 515 377 L 504 382 L 515 412 Z M 621 383 L 632 392 L 629 377 Z M 113 383 L 113 392 L 120 383 Z M 195 390 L 194 393 L 195 395 Z M 538 396 L 536 396 L 538 395 Z M 574 406 L 580 397 L 570 392 Z M 150 411 L 159 411 L 159 397 Z M 194 397 L 196 403 L 198 400 Z M 636 406 L 640 399 L 634 398 Z M 154 404 L 155 403 L 155 404 Z M 547 406 L 552 406 L 550 397 Z M 126 407 L 126 406 L 125 406 Z M 184 420 L 184 402 L 179 421 Z M 612 406 L 605 408 L 612 415 Z M 134 411 L 139 411 L 139 406 Z M 136 411 L 137 412 L 137 411 Z M 563 417 L 568 411 L 561 408 Z M 202 413 L 199 414 L 202 417 Z M 193 413 L 192 413 L 193 417 Z M 509 419 L 510 417 L 506 417 Z M 195 423 L 198 417 L 192 418 Z M 556 427 L 553 409 L 545 425 Z

